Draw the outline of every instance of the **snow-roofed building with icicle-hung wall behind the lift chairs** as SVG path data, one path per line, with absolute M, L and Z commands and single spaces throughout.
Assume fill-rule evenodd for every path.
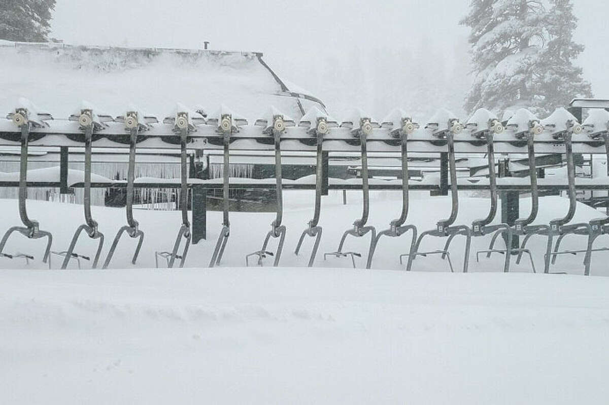
M 160 49 L 69 46 L 61 43 L 0 41 L 0 114 L 15 108 L 19 97 L 32 100 L 55 119 L 68 119 L 83 100 L 113 117 L 136 105 L 160 119 L 177 102 L 201 114 L 230 106 L 250 122 L 275 106 L 300 119 L 312 105 L 325 105 L 282 80 L 259 52 L 201 49 Z M 1 136 L 1 135 L 0 135 Z M 18 148 L 0 148 L 0 172 L 19 170 Z M 136 178 L 178 178 L 176 151 L 138 151 Z M 30 150 L 30 169 L 56 167 L 57 148 Z M 232 171 L 247 174 L 248 165 Z M 83 170 L 83 152 L 71 148 L 69 168 Z M 127 156 L 121 150 L 94 150 L 92 171 L 110 179 L 125 179 Z M 16 198 L 16 189 L 0 189 L 0 197 Z M 29 198 L 52 199 L 58 190 L 30 189 Z M 104 205 L 104 190 L 94 190 L 93 204 Z M 82 190 L 76 190 L 80 202 Z

